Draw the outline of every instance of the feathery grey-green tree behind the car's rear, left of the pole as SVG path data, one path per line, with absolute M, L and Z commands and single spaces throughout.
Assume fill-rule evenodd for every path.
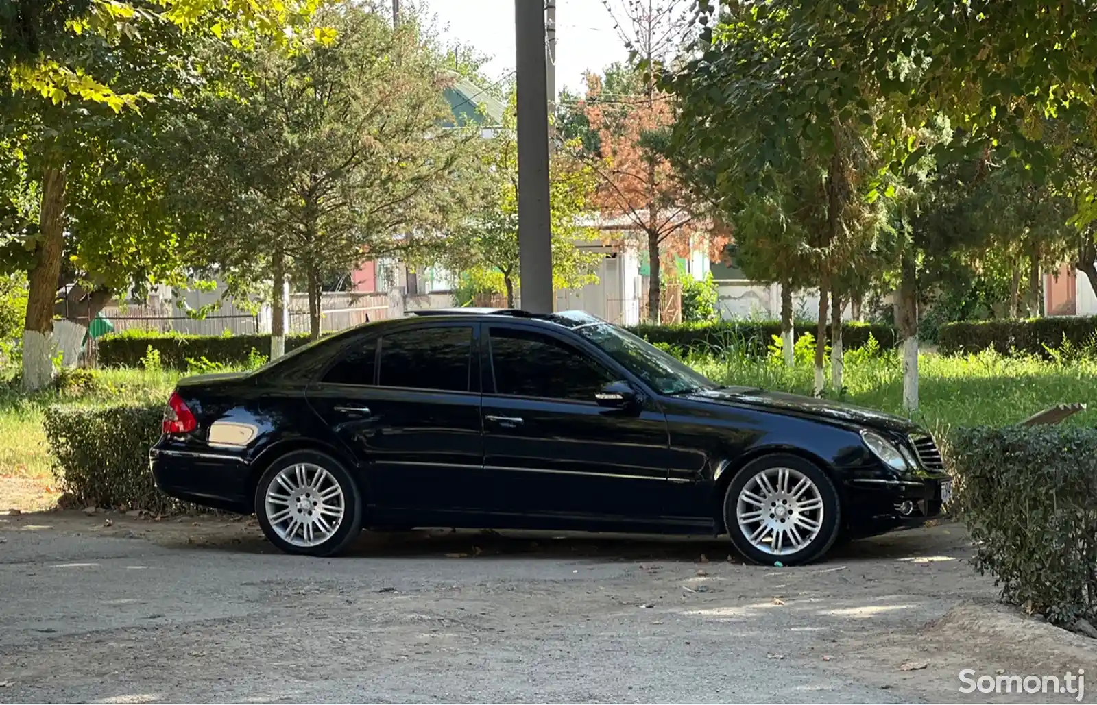
M 428 245 L 480 187 L 467 172 L 478 130 L 441 127 L 453 118 L 448 79 L 417 26 L 394 31 L 357 5 L 321 11 L 315 27 L 325 26 L 338 37 L 328 45 L 238 57 L 241 70 L 202 118 L 216 135 L 206 130 L 210 146 L 195 146 L 189 168 L 218 174 L 217 191 L 199 187 L 231 229 L 219 263 L 292 265 L 314 337 L 326 277 Z M 237 229 L 241 220 L 249 225 Z

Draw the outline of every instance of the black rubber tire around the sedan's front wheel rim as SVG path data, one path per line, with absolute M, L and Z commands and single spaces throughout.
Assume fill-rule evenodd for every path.
M 811 480 L 817 490 L 818 498 L 822 500 L 823 516 L 819 522 L 821 525 L 818 534 L 808 541 L 805 546 L 794 553 L 777 554 L 770 550 L 759 549 L 744 533 L 737 518 L 739 494 L 743 492 L 743 489 L 747 487 L 747 484 L 758 476 L 759 473 L 765 470 L 776 470 L 779 468 L 795 470 L 803 477 Z M 761 522 L 765 521 L 765 518 L 759 520 L 757 527 L 761 528 Z M 841 502 L 838 499 L 838 492 L 835 490 L 834 482 L 832 482 L 827 474 L 814 463 L 795 455 L 767 455 L 751 460 L 745 465 L 743 469 L 736 473 L 734 478 L 732 478 L 731 484 L 727 486 L 727 491 L 724 494 L 724 525 L 727 527 L 727 535 L 731 537 L 735 549 L 746 560 L 769 566 L 776 564 L 781 564 L 782 566 L 799 566 L 818 560 L 828 550 L 830 550 L 830 547 L 838 538 L 839 528 L 841 527 Z M 753 524 L 750 524 L 750 526 L 754 527 Z M 764 533 L 761 538 L 765 537 L 766 534 Z M 772 546 L 772 539 L 770 545 Z

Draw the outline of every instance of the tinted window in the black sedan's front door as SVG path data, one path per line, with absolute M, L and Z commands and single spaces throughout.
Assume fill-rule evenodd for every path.
M 490 341 L 496 394 L 592 402 L 614 380 L 583 351 L 551 336 L 493 328 Z

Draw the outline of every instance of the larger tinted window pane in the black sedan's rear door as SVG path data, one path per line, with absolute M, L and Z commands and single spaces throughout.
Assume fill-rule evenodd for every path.
M 381 339 L 382 387 L 468 391 L 471 327 L 431 327 Z

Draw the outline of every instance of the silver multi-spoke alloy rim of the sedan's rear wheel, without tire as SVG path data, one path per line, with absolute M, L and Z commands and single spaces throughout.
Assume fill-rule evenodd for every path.
M 267 486 L 267 521 L 283 541 L 298 548 L 318 546 L 342 524 L 347 501 L 331 473 L 294 463 Z

